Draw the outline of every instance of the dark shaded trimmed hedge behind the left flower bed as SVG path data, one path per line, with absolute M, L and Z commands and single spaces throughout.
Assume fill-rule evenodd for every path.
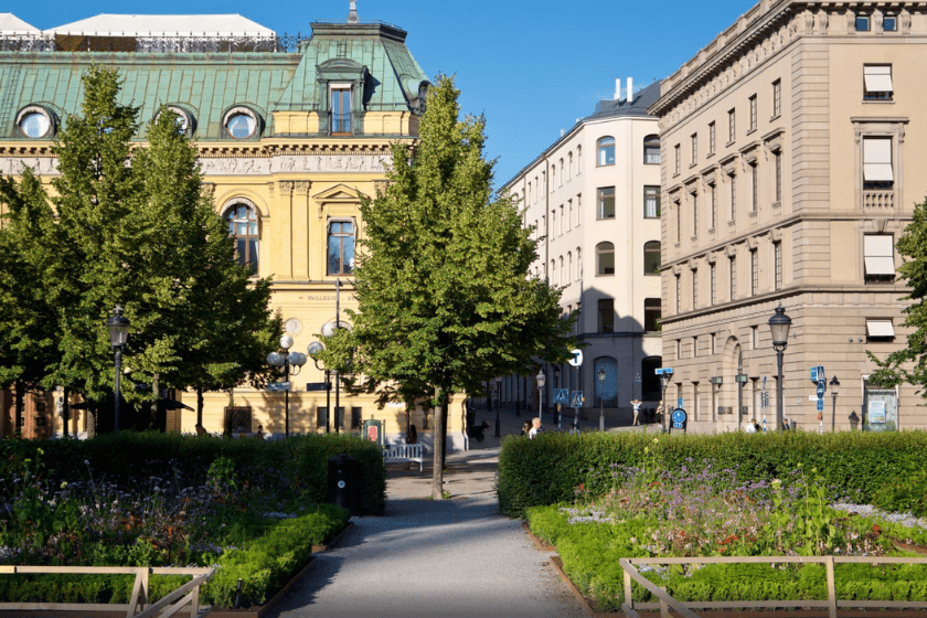
M 18 466 L 23 459 L 35 458 L 39 448 L 44 451 L 44 476 L 54 487 L 61 481 L 86 477 L 87 464 L 94 473 L 103 471 L 107 480 L 121 486 L 149 476 L 180 477 L 185 484 L 201 484 L 210 465 L 220 457 L 228 457 L 235 461 L 239 478 L 247 473 L 245 470 L 255 475 L 252 479 L 242 478 L 243 481 L 260 483 L 262 476 L 284 477 L 310 503 L 326 501 L 328 459 L 348 454 L 360 462 L 361 511 L 382 512 L 386 498 L 386 470 L 379 446 L 338 434 L 292 436 L 275 441 L 134 431 L 92 440 L 2 440 L 0 491 L 11 493 L 9 483 L 15 478 Z

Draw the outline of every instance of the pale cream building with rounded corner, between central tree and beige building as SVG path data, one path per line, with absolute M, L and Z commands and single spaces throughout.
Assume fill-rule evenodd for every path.
M 620 96 L 576 125 L 509 181 L 524 206 L 539 259 L 532 275 L 561 287 L 561 308 L 576 313 L 584 364 L 545 367 L 544 401 L 556 386 L 583 391 L 584 415 L 630 422 L 630 402 L 656 407 L 660 366 L 660 139 L 647 107 L 659 84 Z M 605 370 L 599 384 L 596 375 Z M 534 376 L 502 380 L 501 398 L 536 397 Z M 532 399 L 536 406 L 536 398 Z M 566 406 L 564 406 L 566 407 Z M 573 418 L 566 413 L 565 424 Z M 545 423 L 550 418 L 545 419 Z

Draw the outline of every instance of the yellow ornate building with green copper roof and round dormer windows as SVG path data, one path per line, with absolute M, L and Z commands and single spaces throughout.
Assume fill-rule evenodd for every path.
M 126 34 L 131 33 L 131 34 Z M 273 279 L 290 351 L 306 353 L 337 323 L 352 295 L 354 249 L 363 235 L 361 195 L 385 182 L 392 143 L 418 136 L 428 79 L 405 45 L 406 32 L 382 22 L 312 23 L 312 36 L 283 40 L 239 15 L 97 15 L 40 32 L 0 15 L 0 173 L 23 166 L 57 174 L 51 156 L 68 114 L 79 113 L 81 75 L 92 63 L 118 68 L 122 103 L 145 124 L 168 105 L 195 141 L 216 212 L 226 219 L 238 258 Z M 143 141 L 145 136 L 139 137 Z M 340 294 L 337 284 L 340 283 Z M 340 297 L 340 298 L 339 298 Z M 425 441 L 431 419 L 405 406 L 377 409 L 371 397 L 335 392 L 311 360 L 284 392 L 248 387 L 207 393 L 207 431 L 264 430 L 281 436 L 384 422 L 387 440 L 416 425 Z M 195 394 L 177 398 L 195 408 Z M 449 418 L 449 448 L 465 445 L 462 406 Z M 0 409 L 10 426 L 12 398 Z M 54 408 L 54 406 L 42 406 Z M 32 409 L 32 408 L 30 408 Z M 52 416 L 52 413 L 47 413 Z M 86 419 L 75 415 L 71 431 Z M 60 418 L 49 418 L 61 430 Z M 194 431 L 195 412 L 169 415 L 168 429 Z M 423 429 L 425 431 L 423 431 Z

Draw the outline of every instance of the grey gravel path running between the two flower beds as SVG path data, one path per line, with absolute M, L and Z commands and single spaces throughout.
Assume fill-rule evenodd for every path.
M 429 465 L 425 472 L 390 466 L 383 515 L 354 518 L 266 618 L 583 617 L 550 554 L 499 513 L 499 449 L 490 440 L 448 456 L 450 500 L 426 499 Z

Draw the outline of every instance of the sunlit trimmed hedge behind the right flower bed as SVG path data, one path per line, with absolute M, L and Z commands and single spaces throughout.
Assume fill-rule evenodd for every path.
M 639 466 L 644 447 L 658 452 L 667 469 L 686 465 L 697 470 L 707 460 L 715 468 L 736 469 L 739 478 L 752 480 L 772 480 L 802 464 L 806 469 L 817 468 L 835 493 L 854 497 L 857 503 L 869 503 L 883 488 L 927 469 L 927 431 L 920 430 L 691 436 L 550 433 L 533 440 L 503 439 L 499 505 L 504 514 L 521 518 L 530 507 L 572 501 L 580 483 L 590 489 L 590 471 L 612 464 Z

